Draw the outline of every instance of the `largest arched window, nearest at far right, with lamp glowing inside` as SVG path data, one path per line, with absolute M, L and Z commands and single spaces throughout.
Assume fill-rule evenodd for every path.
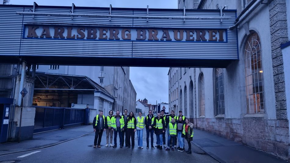
M 263 114 L 264 88 L 260 38 L 252 33 L 245 43 L 245 88 L 248 114 Z

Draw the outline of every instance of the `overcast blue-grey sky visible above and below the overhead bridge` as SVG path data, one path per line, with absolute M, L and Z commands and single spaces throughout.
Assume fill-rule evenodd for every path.
M 178 0 L 10 0 L 11 5 L 56 5 L 82 7 L 122 7 L 122 8 L 159 8 L 177 9 Z M 168 103 L 168 76 L 169 68 L 130 67 L 130 80 L 137 92 L 136 100 L 146 99 L 148 103 Z

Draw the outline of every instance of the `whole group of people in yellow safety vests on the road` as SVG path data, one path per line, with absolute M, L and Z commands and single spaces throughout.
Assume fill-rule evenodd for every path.
M 124 115 L 120 115 L 120 112 L 117 111 L 116 115 L 113 116 L 113 111 L 109 112 L 109 115 L 105 117 L 103 112 L 100 111 L 98 115 L 93 120 L 93 128 L 95 132 L 94 148 L 100 148 L 101 138 L 103 132 L 107 133 L 107 144 L 105 147 L 116 148 L 117 147 L 117 135 L 119 134 L 120 139 L 120 148 L 124 146 L 128 148 L 135 147 L 135 132 L 137 131 L 138 138 L 138 148 L 143 149 L 143 129 L 145 126 L 146 129 L 146 148 L 149 148 L 149 136 L 151 137 L 151 148 L 162 150 L 162 147 L 165 147 L 166 151 L 174 151 L 176 148 L 177 139 L 179 147 L 178 151 L 184 151 L 184 142 L 185 140 L 188 143 L 188 154 L 191 154 L 191 143 L 193 138 L 193 124 L 190 123 L 182 111 L 179 111 L 179 115 L 176 116 L 174 111 L 171 111 L 171 114 L 166 117 L 164 110 L 161 110 L 160 113 L 155 117 L 152 110 L 149 110 L 149 114 L 145 117 L 142 116 L 142 113 L 139 112 L 137 118 L 134 116 L 133 112 L 130 112 L 128 115 L 128 110 L 124 110 Z M 112 144 L 114 132 L 114 145 Z M 167 146 L 165 143 L 165 133 L 167 132 Z M 157 142 L 154 147 L 153 134 L 156 134 Z M 125 138 L 125 140 L 124 140 Z M 110 139 L 110 141 L 109 141 Z

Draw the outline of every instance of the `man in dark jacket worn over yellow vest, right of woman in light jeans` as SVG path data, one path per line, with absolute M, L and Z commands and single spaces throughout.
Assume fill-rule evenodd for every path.
M 154 115 L 152 114 L 152 110 L 148 111 L 148 115 L 145 117 L 144 124 L 146 127 L 146 148 L 149 148 L 149 135 L 151 136 L 151 148 L 155 149 L 153 146 L 153 134 L 154 134 L 154 126 L 156 124 L 156 120 Z

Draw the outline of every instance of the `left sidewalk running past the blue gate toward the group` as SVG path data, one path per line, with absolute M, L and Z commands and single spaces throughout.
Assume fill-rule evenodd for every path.
M 58 129 L 33 135 L 33 139 L 0 144 L 0 156 L 59 144 L 93 132 L 92 125 Z

